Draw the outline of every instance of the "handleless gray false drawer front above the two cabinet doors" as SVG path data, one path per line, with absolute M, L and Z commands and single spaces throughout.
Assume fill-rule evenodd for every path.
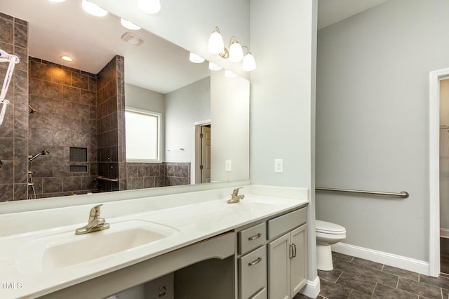
M 284 232 L 293 230 L 305 222 L 307 222 L 307 208 L 305 206 L 286 215 L 268 220 L 268 239 L 278 237 Z

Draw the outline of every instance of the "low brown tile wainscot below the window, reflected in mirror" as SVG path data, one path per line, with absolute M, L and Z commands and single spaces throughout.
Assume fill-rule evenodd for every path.
M 128 189 L 190 184 L 190 163 L 128 163 Z

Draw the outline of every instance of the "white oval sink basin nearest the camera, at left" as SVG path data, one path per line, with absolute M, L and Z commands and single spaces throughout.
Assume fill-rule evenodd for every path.
M 175 232 L 173 227 L 143 220 L 109 223 L 108 230 L 75 235 L 74 230 L 30 239 L 20 248 L 16 262 L 21 272 L 60 269 L 154 243 Z

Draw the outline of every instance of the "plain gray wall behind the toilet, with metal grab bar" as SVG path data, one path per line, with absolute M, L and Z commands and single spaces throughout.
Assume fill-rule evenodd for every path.
M 429 260 L 429 72 L 449 65 L 449 1 L 390 0 L 318 34 L 316 218 L 347 244 Z

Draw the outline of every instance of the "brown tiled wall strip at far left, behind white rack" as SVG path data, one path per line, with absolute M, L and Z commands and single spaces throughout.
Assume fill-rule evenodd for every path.
M 0 13 L 0 49 L 17 55 L 0 126 L 0 201 L 27 199 L 28 154 L 28 23 Z M 8 62 L 0 63 L 0 87 Z M 1 109 L 0 105 L 0 109 Z

